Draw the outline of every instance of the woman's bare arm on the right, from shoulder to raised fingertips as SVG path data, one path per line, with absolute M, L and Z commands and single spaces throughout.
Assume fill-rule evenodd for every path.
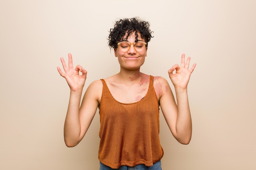
M 160 106 L 166 122 L 177 141 L 181 144 L 189 144 L 192 135 L 192 121 L 189 109 L 189 99 L 187 95 L 187 84 L 191 73 L 195 68 L 193 64 L 189 70 L 188 57 L 185 64 L 185 55 L 182 55 L 182 62 L 179 66 L 175 64 L 169 71 L 169 77 L 175 87 L 177 105 L 173 97 L 173 93 L 168 82 L 162 80 L 163 88 L 162 95 L 160 97 Z M 173 71 L 176 70 L 174 74 Z

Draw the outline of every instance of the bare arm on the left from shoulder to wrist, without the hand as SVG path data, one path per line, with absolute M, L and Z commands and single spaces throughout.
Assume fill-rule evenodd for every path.
M 70 101 L 64 124 L 64 140 L 68 147 L 79 144 L 87 132 L 96 113 L 98 103 L 97 93 L 100 90 L 99 81 L 92 82 L 85 91 L 81 106 L 81 93 L 70 92 Z

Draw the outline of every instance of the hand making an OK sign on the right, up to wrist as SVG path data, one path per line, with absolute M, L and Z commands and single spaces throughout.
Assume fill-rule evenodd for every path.
M 185 54 L 181 56 L 181 64 L 175 64 L 172 68 L 168 70 L 169 77 L 175 88 L 186 89 L 189 83 L 190 75 L 193 72 L 196 64 L 189 69 L 190 57 L 187 58 L 185 63 Z M 176 71 L 176 73 L 173 73 Z

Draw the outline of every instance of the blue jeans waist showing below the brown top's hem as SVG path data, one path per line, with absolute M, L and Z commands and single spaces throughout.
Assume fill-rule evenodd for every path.
M 103 165 L 101 162 L 99 162 L 99 164 L 99 170 L 162 170 L 161 161 L 154 163 L 153 166 L 145 166 L 144 164 L 139 164 L 134 167 L 120 166 L 118 169 L 112 169 L 106 165 Z

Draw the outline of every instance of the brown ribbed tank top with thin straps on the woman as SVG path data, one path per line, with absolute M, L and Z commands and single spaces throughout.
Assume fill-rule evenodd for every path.
M 153 76 L 150 75 L 146 96 L 129 104 L 115 100 L 105 80 L 101 81 L 99 160 L 113 169 L 139 164 L 153 166 L 164 155 L 159 141 L 159 104 Z

